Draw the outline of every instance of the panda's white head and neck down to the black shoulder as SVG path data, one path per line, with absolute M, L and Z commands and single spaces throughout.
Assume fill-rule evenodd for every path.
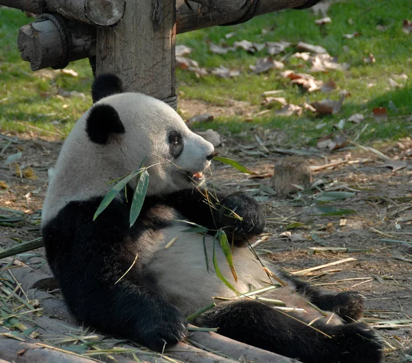
M 173 108 L 141 93 L 122 93 L 114 75 L 98 77 L 92 96 L 93 106 L 60 151 L 43 207 L 45 220 L 67 202 L 104 196 L 113 186 L 109 182 L 142 162 L 148 167 L 148 196 L 203 183 L 214 147 L 190 131 Z

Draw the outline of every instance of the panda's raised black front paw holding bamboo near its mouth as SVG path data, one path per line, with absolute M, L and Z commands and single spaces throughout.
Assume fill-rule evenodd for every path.
M 264 215 L 258 202 L 244 194 L 231 194 L 220 200 L 218 224 L 235 242 L 245 242 L 260 235 L 264 229 Z

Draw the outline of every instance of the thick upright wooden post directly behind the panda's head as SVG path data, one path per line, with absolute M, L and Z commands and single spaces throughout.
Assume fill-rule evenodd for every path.
M 96 73 L 115 73 L 125 91 L 163 99 L 176 108 L 174 76 L 175 1 L 163 0 L 156 29 L 152 0 L 126 0 L 124 18 L 116 27 L 98 28 Z

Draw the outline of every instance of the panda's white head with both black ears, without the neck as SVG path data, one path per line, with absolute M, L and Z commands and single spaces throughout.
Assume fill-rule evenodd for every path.
M 203 183 L 214 147 L 189 130 L 170 106 L 141 93 L 122 93 L 115 75 L 100 75 L 92 97 L 85 128 L 89 141 L 125 172 L 145 161 L 149 195 Z

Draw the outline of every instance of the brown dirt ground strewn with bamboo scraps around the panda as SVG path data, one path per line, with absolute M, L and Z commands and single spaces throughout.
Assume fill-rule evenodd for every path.
M 309 165 L 346 162 L 314 172 L 316 187 L 286 197 L 273 192 L 276 177 L 271 176 L 273 165 L 287 153 L 279 150 L 285 148 L 278 143 L 279 131 L 253 130 L 251 136 L 259 132 L 262 143 L 224 135 L 227 139 L 216 151 L 260 176 L 247 176 L 217 162 L 212 168 L 216 189 L 244 191 L 262 202 L 266 231 L 255 249 L 291 271 L 352 257 L 302 278 L 330 290 L 357 290 L 365 295 L 364 319 L 385 338 L 386 361 L 412 362 L 412 141 L 382 146 L 380 151 L 391 161 L 357 148 L 332 154 L 306 148 L 302 157 Z M 54 137 L 0 134 L 1 248 L 40 237 L 47 169 L 53 167 L 61 145 Z M 8 156 L 18 152 L 21 157 L 6 165 Z M 338 193 L 321 203 L 323 191 L 352 194 Z M 48 272 L 43 249 L 33 254 L 37 259 L 32 267 Z

